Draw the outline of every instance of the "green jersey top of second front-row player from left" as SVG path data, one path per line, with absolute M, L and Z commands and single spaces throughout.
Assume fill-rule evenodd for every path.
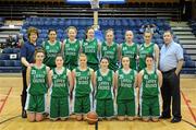
M 56 68 L 52 69 L 51 96 L 63 97 L 69 95 L 68 71 L 68 69 L 63 68 L 63 72 L 58 74 Z

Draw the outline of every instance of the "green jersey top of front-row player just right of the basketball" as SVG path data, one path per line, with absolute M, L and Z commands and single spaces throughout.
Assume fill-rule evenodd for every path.
M 96 99 L 113 98 L 113 71 L 109 70 L 106 75 L 102 75 L 100 70 L 96 71 Z

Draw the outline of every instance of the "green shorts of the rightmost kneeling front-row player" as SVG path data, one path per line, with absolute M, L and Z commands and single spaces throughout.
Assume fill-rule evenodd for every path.
M 140 116 L 142 117 L 159 117 L 160 116 L 160 101 L 159 96 L 151 98 L 142 98 L 140 101 Z

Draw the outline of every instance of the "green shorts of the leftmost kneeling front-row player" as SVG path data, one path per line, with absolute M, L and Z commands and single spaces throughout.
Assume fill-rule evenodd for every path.
M 46 111 L 46 94 L 30 95 L 27 94 L 25 109 L 28 113 L 45 113 Z

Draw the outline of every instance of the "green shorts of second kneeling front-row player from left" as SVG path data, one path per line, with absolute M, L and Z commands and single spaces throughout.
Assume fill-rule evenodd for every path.
M 68 118 L 70 116 L 70 98 L 52 97 L 50 98 L 50 118 Z

